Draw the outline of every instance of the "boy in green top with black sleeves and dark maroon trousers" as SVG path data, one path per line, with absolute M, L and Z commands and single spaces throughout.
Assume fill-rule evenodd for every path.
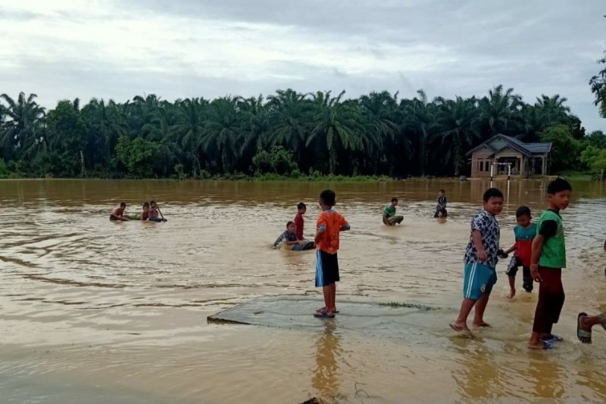
M 532 335 L 528 348 L 550 349 L 562 340 L 551 334 L 564 306 L 562 268 L 566 267 L 564 225 L 560 211 L 570 203 L 572 187 L 567 180 L 555 179 L 547 186 L 549 208 L 537 222 L 537 234 L 532 243 L 530 276 L 539 282 L 539 301 L 534 312 Z

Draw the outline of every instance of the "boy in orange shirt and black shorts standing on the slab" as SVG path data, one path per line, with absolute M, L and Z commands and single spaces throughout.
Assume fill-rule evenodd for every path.
M 316 223 L 316 287 L 322 288 L 324 293 L 324 307 L 313 315 L 324 319 L 332 319 L 336 309 L 336 283 L 339 279 L 339 233 L 349 230 L 349 224 L 342 214 L 333 210 L 335 206 L 335 191 L 324 190 L 319 199 L 322 213 L 318 215 Z

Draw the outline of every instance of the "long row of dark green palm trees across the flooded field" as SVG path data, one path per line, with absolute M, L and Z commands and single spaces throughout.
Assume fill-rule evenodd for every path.
M 2 94 L 0 158 L 32 175 L 162 177 L 179 168 L 198 176 L 250 173 L 259 151 L 281 146 L 304 173 L 459 175 L 468 170 L 465 152 L 497 133 L 536 142 L 563 124 L 583 136 L 565 102 L 556 95 L 527 104 L 499 85 L 482 98 L 431 101 L 422 90 L 412 99 L 388 91 L 347 99 L 345 91 L 288 89 L 266 99 L 150 94 L 84 107 L 76 99 L 46 111 L 36 94 Z

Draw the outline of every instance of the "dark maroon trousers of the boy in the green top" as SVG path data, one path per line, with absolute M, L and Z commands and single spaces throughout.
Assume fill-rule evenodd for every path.
M 532 330 L 535 333 L 551 334 L 551 327 L 558 322 L 564 306 L 562 270 L 539 267 L 539 274 L 542 282 L 539 283 L 539 301 L 536 303 Z

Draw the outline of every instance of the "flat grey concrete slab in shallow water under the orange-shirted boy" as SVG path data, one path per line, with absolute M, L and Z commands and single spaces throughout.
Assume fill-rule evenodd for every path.
M 317 328 L 324 322 L 338 322 L 341 329 L 364 329 L 393 334 L 402 325 L 419 325 L 431 310 L 427 306 L 388 306 L 373 302 L 337 302 L 335 319 L 313 316 L 323 305 L 317 299 L 262 299 L 229 308 L 208 317 L 213 323 L 240 323 L 281 328 Z

